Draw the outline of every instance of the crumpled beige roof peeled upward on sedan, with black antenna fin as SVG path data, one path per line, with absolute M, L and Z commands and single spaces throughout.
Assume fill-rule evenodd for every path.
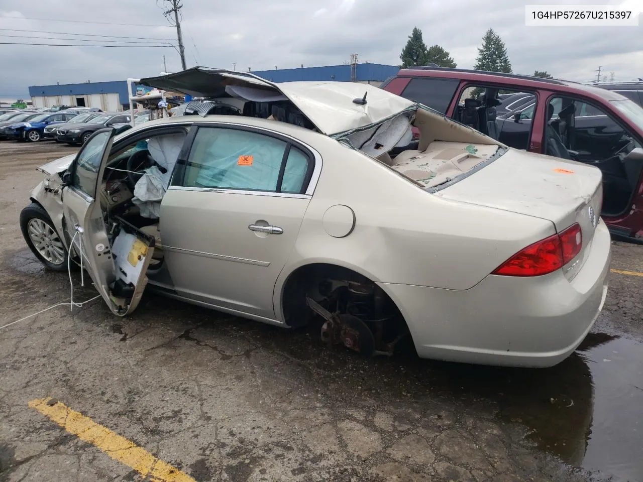
M 322 134 L 331 136 L 378 123 L 415 102 L 356 82 L 269 82 L 246 72 L 192 67 L 142 78 L 140 84 L 195 97 L 237 97 L 253 102 L 289 100 Z M 353 102 L 366 95 L 366 103 Z

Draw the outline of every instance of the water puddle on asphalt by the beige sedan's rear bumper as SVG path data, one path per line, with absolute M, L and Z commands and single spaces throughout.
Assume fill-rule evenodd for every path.
M 444 364 L 426 380 L 419 365 L 433 389 L 498 404 L 505 422 L 529 427 L 541 449 L 566 463 L 615 482 L 643 481 L 643 343 L 590 334 L 546 369 Z

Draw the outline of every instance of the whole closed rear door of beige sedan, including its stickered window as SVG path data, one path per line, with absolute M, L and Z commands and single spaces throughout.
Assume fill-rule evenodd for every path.
M 196 130 L 195 130 L 196 127 Z M 197 124 L 161 202 L 161 239 L 181 296 L 275 322 L 273 292 L 320 163 L 278 132 Z

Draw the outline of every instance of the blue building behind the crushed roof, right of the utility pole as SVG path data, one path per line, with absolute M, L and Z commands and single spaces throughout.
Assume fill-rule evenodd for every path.
M 292 82 L 294 80 L 337 80 L 339 82 L 360 82 L 361 84 L 378 85 L 399 71 L 399 67 L 383 64 L 350 64 L 326 67 L 300 67 L 298 69 L 276 69 L 255 71 L 258 75 L 272 82 Z

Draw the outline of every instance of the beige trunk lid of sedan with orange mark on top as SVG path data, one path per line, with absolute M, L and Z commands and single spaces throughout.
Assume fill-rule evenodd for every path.
M 577 260 L 591 245 L 601 214 L 602 174 L 582 163 L 510 149 L 435 195 L 547 219 L 557 233 L 578 223 L 583 249 L 572 263 L 579 269 L 583 263 Z M 566 274 L 574 272 L 568 268 Z

